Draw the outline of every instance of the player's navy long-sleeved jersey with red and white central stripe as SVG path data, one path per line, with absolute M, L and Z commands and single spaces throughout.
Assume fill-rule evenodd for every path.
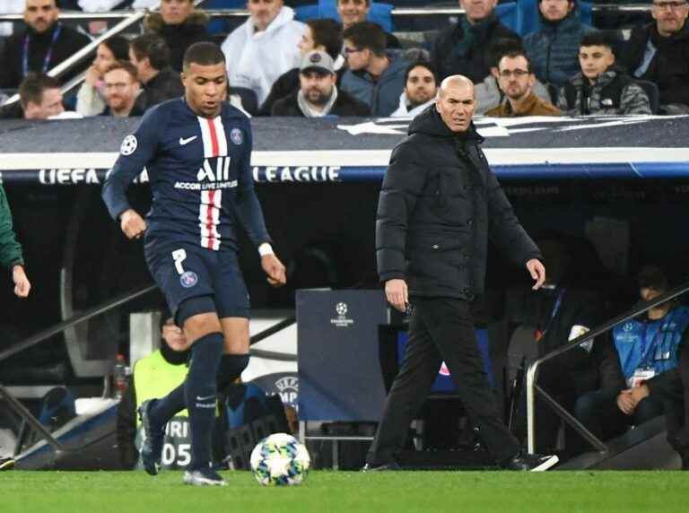
M 150 109 L 120 148 L 103 186 L 110 215 L 131 208 L 126 188 L 144 168 L 153 190 L 146 240 L 237 248 L 237 220 L 255 245 L 270 242 L 250 169 L 249 118 L 223 103 L 214 119 L 198 117 L 187 101 Z

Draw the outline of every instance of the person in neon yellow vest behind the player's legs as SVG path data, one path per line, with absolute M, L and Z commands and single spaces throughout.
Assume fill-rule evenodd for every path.
M 189 357 L 189 343 L 184 332 L 174 325 L 172 318 L 167 318 L 161 326 L 161 348 L 135 362 L 134 372 L 129 378 L 126 390 L 118 405 L 118 448 L 122 466 L 131 469 L 139 459 L 138 448 L 141 444 L 143 429 L 136 418 L 136 409 L 147 399 L 165 395 L 179 386 L 187 376 L 185 363 Z M 181 429 L 170 430 L 165 437 L 165 445 L 174 457 L 172 468 L 185 468 L 184 454 L 189 446 L 188 413 L 183 410 L 170 422 L 179 423 Z M 181 449 L 181 450 L 180 450 Z M 167 462 L 166 462 L 167 463 Z

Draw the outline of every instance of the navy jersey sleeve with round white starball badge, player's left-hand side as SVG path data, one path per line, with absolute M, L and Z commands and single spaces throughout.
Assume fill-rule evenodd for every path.
M 101 192 L 113 219 L 117 220 L 121 213 L 131 208 L 126 199 L 126 189 L 153 160 L 161 127 L 160 109 L 151 109 L 144 114 L 134 134 L 127 135 L 122 141 L 118 160 L 105 180 Z

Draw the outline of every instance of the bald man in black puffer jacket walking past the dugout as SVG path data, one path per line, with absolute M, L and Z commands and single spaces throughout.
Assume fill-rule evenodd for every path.
M 538 289 L 545 267 L 479 148 L 474 84 L 454 75 L 435 105 L 414 117 L 392 152 L 380 191 L 376 251 L 388 301 L 413 306 L 405 360 L 390 389 L 364 470 L 396 468 L 414 415 L 445 361 L 498 465 L 545 470 L 556 456 L 526 455 L 501 422 L 478 349 L 471 302 L 484 292 L 488 238 Z

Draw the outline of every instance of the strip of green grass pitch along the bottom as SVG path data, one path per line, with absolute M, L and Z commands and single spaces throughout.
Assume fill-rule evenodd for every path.
M 0 473 L 6 511 L 45 513 L 689 511 L 681 472 L 311 472 L 304 484 L 264 488 L 248 472 L 228 486 L 181 483 L 178 472 Z

